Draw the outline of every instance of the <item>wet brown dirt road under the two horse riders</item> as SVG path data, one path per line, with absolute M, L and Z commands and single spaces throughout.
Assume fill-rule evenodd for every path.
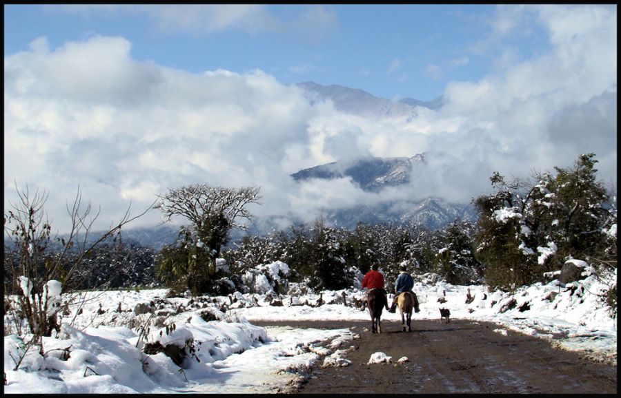
M 362 393 L 531 393 L 615 394 L 617 368 L 589 362 L 578 353 L 502 326 L 466 320 L 413 320 L 410 333 L 400 322 L 382 322 L 384 333 L 372 334 L 368 322 L 253 322 L 259 326 L 351 328 L 360 335 L 345 357 L 351 366 L 321 368 L 299 386 L 301 394 Z M 391 364 L 368 364 L 373 353 Z M 408 357 L 409 362 L 397 364 Z

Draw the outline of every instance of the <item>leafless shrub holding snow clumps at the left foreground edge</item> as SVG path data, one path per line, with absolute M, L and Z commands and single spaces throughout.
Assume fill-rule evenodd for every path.
M 50 336 L 59 330 L 57 312 L 60 308 L 59 294 L 72 291 L 72 276 L 80 268 L 82 260 L 101 242 L 109 238 L 119 238 L 121 228 L 143 216 L 152 206 L 138 216 L 130 216 L 129 207 L 125 215 L 112 225 L 108 231 L 97 238 L 91 238 L 92 226 L 99 216 L 91 216 L 90 204 L 81 209 L 81 191 L 78 187 L 73 205 L 67 206 L 70 216 L 70 232 L 59 238 L 52 237 L 52 227 L 44 211 L 48 194 L 39 190 L 30 193 L 28 187 L 20 190 L 15 186 L 19 201 L 10 203 L 10 209 L 4 215 L 5 272 L 11 274 L 10 286 L 18 296 L 18 306 L 35 344 L 40 344 L 41 337 Z M 154 202 L 155 204 L 155 202 Z M 131 206 L 131 205 L 130 205 Z M 52 253 L 52 245 L 59 244 Z M 69 251 L 77 255 L 68 256 Z M 6 284 L 5 280 L 5 284 Z M 59 289 L 60 286 L 60 289 Z M 40 348 L 43 349 L 42 346 Z

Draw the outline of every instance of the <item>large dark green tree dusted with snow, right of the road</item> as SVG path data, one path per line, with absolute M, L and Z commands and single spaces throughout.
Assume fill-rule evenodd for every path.
M 491 177 L 497 192 L 475 199 L 477 259 L 486 265 L 492 288 L 515 289 L 542 280 L 568 258 L 599 255 L 607 247 L 610 198 L 595 179 L 594 154 L 579 156 L 573 168 L 537 173 L 534 181 L 506 184 Z

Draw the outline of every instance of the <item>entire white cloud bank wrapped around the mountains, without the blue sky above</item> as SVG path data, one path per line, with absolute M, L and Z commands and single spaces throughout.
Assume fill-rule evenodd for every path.
M 299 87 L 261 70 L 195 74 L 136 61 L 122 37 L 53 49 L 39 38 L 5 57 L 5 207 L 14 181 L 46 189 L 52 226 L 62 229 L 79 186 L 108 227 L 130 202 L 137 212 L 181 185 L 256 185 L 263 199 L 253 213 L 285 225 L 326 207 L 428 196 L 465 203 L 489 191 L 493 171 L 525 178 L 588 152 L 600 160 L 598 177 L 616 182 L 615 11 L 533 8 L 549 52 L 479 81 L 453 81 L 444 107 L 409 121 L 311 105 Z M 290 178 L 334 160 L 422 152 L 426 165 L 402 189 L 366 193 L 348 178 Z M 152 211 L 135 225 L 159 219 Z

